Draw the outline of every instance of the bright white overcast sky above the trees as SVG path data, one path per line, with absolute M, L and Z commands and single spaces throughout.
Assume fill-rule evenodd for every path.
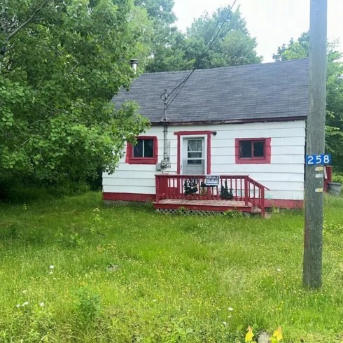
M 233 3 L 233 0 L 174 1 L 177 25 L 183 31 L 204 11 L 212 13 Z M 263 56 L 263 62 L 272 62 L 279 45 L 309 29 L 309 3 L 310 0 L 237 0 L 234 9 L 240 6 L 251 36 L 257 38 L 256 50 Z M 343 0 L 328 0 L 328 38 L 339 38 L 339 51 L 343 52 Z

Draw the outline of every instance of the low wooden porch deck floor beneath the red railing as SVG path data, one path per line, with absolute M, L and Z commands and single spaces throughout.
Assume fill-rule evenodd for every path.
M 154 202 L 155 209 L 176 210 L 180 207 L 196 211 L 242 211 L 250 213 L 260 213 L 260 209 L 252 204 L 246 205 L 239 200 L 188 200 L 188 199 L 163 199 Z

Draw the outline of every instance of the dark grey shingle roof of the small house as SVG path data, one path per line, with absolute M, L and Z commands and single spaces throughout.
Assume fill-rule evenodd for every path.
M 190 71 L 145 73 L 120 90 L 113 102 L 133 100 L 140 113 L 159 123 L 160 95 Z M 308 59 L 196 70 L 168 109 L 170 123 L 287 119 L 307 116 Z

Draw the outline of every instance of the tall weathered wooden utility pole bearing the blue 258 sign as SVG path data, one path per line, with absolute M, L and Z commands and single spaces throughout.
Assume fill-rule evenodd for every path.
M 327 0 L 311 0 L 307 155 L 325 149 Z M 306 165 L 302 284 L 320 288 L 323 256 L 323 165 Z

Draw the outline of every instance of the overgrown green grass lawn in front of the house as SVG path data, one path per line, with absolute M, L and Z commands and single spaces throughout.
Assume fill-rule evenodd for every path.
M 343 198 L 325 198 L 323 288 L 302 289 L 302 214 L 0 204 L 0 342 L 343 342 Z

